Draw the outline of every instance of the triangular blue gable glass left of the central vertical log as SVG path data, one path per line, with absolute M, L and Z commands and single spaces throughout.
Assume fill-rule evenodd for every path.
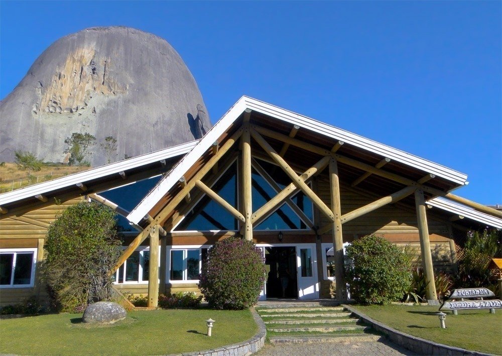
M 232 164 L 211 187 L 230 205 L 237 207 L 237 163 Z M 187 214 L 176 231 L 236 230 L 237 220 L 214 200 L 204 197 Z

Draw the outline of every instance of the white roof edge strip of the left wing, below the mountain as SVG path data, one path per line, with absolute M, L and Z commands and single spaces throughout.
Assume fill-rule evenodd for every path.
M 59 188 L 68 187 L 77 183 L 117 174 L 120 171 L 140 167 L 155 161 L 184 155 L 190 152 L 198 143 L 198 140 L 176 145 L 159 151 L 147 153 L 127 160 L 107 164 L 101 167 L 89 169 L 87 171 L 74 173 L 65 177 L 56 178 L 47 182 L 30 185 L 26 188 L 16 189 L 11 192 L 0 194 L 0 205 L 8 204 L 17 200 L 33 197 L 37 194 L 44 194 Z

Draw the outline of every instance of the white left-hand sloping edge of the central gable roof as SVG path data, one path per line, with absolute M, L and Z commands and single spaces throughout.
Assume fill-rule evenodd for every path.
M 186 171 L 211 147 L 211 145 L 228 129 L 228 127 L 244 111 L 245 103 L 241 97 L 220 120 L 200 139 L 193 150 L 183 157 L 170 172 L 164 176 L 155 187 L 130 212 L 127 218 L 134 223 L 141 219 L 154 207 L 159 199 L 186 173 Z

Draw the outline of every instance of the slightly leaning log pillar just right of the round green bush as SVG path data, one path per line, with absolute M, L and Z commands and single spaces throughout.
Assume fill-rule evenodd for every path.
M 429 227 L 427 225 L 427 214 L 425 207 L 424 191 L 415 191 L 415 206 L 417 208 L 418 233 L 420 235 L 420 250 L 422 251 L 422 264 L 425 278 L 428 283 L 426 289 L 427 300 L 431 304 L 437 302 L 436 285 L 434 282 L 434 270 L 432 267 L 431 244 L 429 241 Z

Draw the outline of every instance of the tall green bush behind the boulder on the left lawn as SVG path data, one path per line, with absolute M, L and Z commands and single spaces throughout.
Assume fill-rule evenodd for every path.
M 82 202 L 66 209 L 49 227 L 45 277 L 51 297 L 63 311 L 108 300 L 121 242 L 115 213 L 98 203 Z

